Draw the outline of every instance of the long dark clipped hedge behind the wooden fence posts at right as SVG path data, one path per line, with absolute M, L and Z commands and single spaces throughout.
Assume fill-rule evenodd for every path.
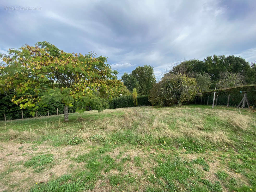
M 218 101 L 217 101 L 218 105 L 227 105 L 228 95 L 230 94 L 229 106 L 237 106 L 242 100 L 244 93 L 247 93 L 249 104 L 253 106 L 253 108 L 256 106 L 256 85 L 234 87 L 234 88 L 222 89 L 222 90 L 219 89 L 214 91 L 216 91 L 214 102 L 216 102 L 216 96 L 218 95 Z M 208 96 L 209 96 L 209 104 L 212 104 L 214 91 L 208 91 L 208 92 L 202 93 L 202 104 L 207 104 Z M 201 97 L 197 98 L 198 104 L 200 104 L 200 100 L 201 100 Z M 247 107 L 247 104 L 246 104 L 246 107 Z

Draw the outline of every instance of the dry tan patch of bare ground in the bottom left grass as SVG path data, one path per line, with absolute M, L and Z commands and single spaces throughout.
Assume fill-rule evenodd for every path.
M 53 147 L 47 144 L 35 145 L 31 143 L 20 144 L 14 142 L 0 143 L 0 145 L 4 148 L 0 151 L 0 156 L 3 158 L 0 161 L 0 172 L 6 173 L 9 168 L 14 169 L 1 180 L 1 186 L 3 187 L 0 188 L 0 191 L 6 189 L 11 190 L 8 188 L 7 184 L 13 183 L 18 183 L 19 188 L 12 188 L 12 190 L 24 191 L 36 183 L 47 183 L 51 179 L 55 179 L 64 174 L 70 174 L 73 170 L 69 165 L 74 164 L 70 158 L 90 151 L 88 143 L 60 147 Z M 35 150 L 35 148 L 38 149 Z M 25 161 L 33 156 L 45 153 L 53 154 L 54 161 L 52 165 L 46 166 L 39 173 L 34 172 L 35 169 L 32 167 L 24 167 Z M 83 162 L 76 163 L 76 167 L 83 166 Z M 17 178 L 19 179 L 17 180 Z

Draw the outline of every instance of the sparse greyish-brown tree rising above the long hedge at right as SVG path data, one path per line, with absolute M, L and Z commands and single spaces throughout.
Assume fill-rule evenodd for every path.
M 243 85 L 243 76 L 239 73 L 222 72 L 217 83 L 217 88 L 226 89 Z

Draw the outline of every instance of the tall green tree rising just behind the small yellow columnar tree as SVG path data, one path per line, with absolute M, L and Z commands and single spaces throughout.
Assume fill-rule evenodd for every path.
M 138 66 L 131 74 L 136 78 L 139 84 L 138 92 L 141 95 L 148 95 L 153 85 L 156 83 L 153 67 L 149 65 L 144 65 L 143 67 Z

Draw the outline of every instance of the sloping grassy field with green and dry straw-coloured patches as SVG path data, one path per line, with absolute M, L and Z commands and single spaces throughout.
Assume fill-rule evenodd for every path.
M 0 191 L 256 191 L 256 112 L 136 107 L 0 123 Z

